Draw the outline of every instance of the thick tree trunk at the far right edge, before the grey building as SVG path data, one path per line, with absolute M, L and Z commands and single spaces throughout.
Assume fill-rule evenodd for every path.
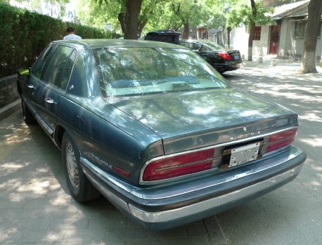
M 301 59 L 300 72 L 317 73 L 316 70 L 316 43 L 318 29 L 321 28 L 322 1 L 311 0 L 309 2 L 309 16 L 307 18 L 307 29 L 304 37 L 304 50 Z

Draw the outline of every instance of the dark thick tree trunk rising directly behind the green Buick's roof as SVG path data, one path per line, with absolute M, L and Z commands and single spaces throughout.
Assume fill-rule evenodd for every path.
M 139 14 L 143 0 L 127 0 L 124 16 L 124 39 L 138 39 Z

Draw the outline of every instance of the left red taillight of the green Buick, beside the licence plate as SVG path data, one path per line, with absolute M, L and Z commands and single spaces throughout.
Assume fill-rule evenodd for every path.
M 212 168 L 214 148 L 179 154 L 151 161 L 144 169 L 142 180 L 165 180 Z

